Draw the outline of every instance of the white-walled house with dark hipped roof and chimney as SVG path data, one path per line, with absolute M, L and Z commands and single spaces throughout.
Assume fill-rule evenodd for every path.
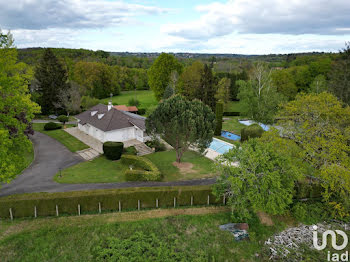
M 75 117 L 79 130 L 101 142 L 132 139 L 146 142 L 151 139 L 146 134 L 145 117 L 118 110 L 111 102 L 98 104 Z

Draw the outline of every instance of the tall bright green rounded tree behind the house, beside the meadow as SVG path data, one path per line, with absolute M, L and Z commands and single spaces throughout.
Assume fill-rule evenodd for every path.
M 166 53 L 162 53 L 148 70 L 148 84 L 158 101 L 162 99 L 173 71 L 180 74 L 182 66 L 173 55 Z

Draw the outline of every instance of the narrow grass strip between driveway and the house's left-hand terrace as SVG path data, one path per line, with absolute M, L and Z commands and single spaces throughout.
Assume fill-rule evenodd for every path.
M 56 139 L 58 142 L 62 143 L 65 147 L 67 147 L 71 152 L 80 151 L 86 148 L 89 148 L 87 145 L 85 145 L 80 140 L 76 139 L 74 136 L 68 134 L 63 129 L 58 130 L 50 130 L 46 131 L 44 130 L 43 123 L 34 123 L 33 128 L 35 131 L 38 131 L 40 133 L 43 133 L 45 135 L 51 136 L 52 138 Z M 66 125 L 67 127 L 71 127 L 71 125 Z

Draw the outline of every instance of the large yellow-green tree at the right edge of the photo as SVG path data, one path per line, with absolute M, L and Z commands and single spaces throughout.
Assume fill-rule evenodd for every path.
M 341 210 L 338 215 L 349 214 L 350 107 L 326 92 L 303 94 L 284 105 L 279 117 L 282 135 L 300 146 L 300 158 L 315 170 L 324 201 Z

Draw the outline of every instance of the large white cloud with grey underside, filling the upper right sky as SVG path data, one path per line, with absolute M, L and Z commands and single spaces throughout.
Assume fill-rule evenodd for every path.
M 342 34 L 350 24 L 348 0 L 230 0 L 196 7 L 198 20 L 168 24 L 162 31 L 186 39 L 233 32 L 252 34 Z

